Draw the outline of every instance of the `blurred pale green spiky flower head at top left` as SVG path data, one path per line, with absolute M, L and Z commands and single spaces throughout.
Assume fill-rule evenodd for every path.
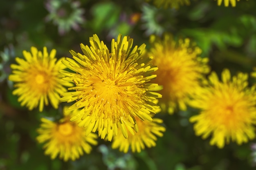
M 84 9 L 79 8 L 79 1 L 48 0 L 45 4 L 49 14 L 46 21 L 53 21 L 58 26 L 58 32 L 63 35 L 72 29 L 78 31 L 79 24 L 83 24 Z

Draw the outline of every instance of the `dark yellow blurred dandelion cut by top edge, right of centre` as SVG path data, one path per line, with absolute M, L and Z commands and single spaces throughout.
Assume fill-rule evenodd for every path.
M 150 1 L 150 0 L 146 0 Z M 156 7 L 175 8 L 179 9 L 180 6 L 189 5 L 190 0 L 153 0 Z

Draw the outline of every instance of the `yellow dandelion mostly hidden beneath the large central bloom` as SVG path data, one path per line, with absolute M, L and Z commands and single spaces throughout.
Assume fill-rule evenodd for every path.
M 128 138 L 119 133 L 113 138 L 113 149 L 119 148 L 121 152 L 127 153 L 130 147 L 132 152 L 141 152 L 141 150 L 145 149 L 145 145 L 148 148 L 155 146 L 157 136 L 163 136 L 165 128 L 159 125 L 162 124 L 162 119 L 153 118 L 152 121 L 141 121 L 136 118 L 136 120 L 138 132 L 135 132 L 135 135 L 128 132 Z

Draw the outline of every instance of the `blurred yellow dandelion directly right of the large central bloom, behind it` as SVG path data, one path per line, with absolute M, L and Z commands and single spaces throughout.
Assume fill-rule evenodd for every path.
M 178 107 L 186 110 L 189 95 L 199 86 L 204 74 L 209 72 L 208 58 L 201 58 L 201 49 L 188 38 L 177 42 L 165 34 L 163 40 L 150 36 L 152 47 L 148 55 L 159 69 L 154 83 L 163 85 L 159 105 L 162 111 L 172 114 Z

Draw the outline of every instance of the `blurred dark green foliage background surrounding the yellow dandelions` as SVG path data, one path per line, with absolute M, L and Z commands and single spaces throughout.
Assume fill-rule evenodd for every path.
M 168 1 L 168 0 L 166 0 Z M 8 80 L 10 64 L 31 46 L 57 50 L 57 57 L 81 53 L 97 34 L 110 48 L 119 33 L 147 44 L 149 36 L 168 32 L 191 38 L 209 57 L 212 71 L 250 73 L 256 65 L 256 1 L 240 0 L 236 7 L 217 6 L 215 0 L 191 0 L 178 9 L 155 7 L 144 0 L 2 0 L 0 2 L 0 170 L 255 170 L 256 140 L 223 149 L 197 137 L 189 108 L 173 115 L 158 114 L 166 132 L 154 148 L 121 153 L 99 140 L 90 155 L 77 161 L 51 160 L 37 144 L 40 117 L 60 117 L 51 106 L 42 113 L 21 107 Z M 254 83 L 249 79 L 250 84 Z M 64 105 L 64 104 L 61 104 Z

